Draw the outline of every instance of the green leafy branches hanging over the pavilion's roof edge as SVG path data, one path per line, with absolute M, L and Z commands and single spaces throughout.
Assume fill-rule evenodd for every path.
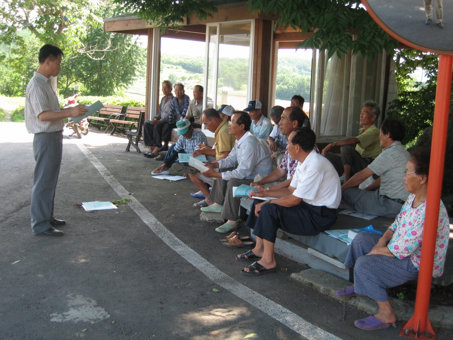
M 177 30 L 179 23 L 192 13 L 200 19 L 217 12 L 208 0 L 114 0 L 123 3 L 127 10 L 153 22 L 162 31 Z M 156 3 L 157 2 L 157 3 Z M 360 0 L 248 0 L 251 11 L 278 13 L 275 27 L 284 26 L 301 33 L 313 34 L 299 44 L 302 48 L 328 50 L 328 57 L 337 53 L 341 58 L 348 49 L 361 53 L 368 59 L 385 49 L 388 53 L 396 47 L 396 41 L 383 31 L 369 16 Z M 315 28 L 316 30 L 313 30 Z M 353 40 L 353 35 L 356 35 Z

